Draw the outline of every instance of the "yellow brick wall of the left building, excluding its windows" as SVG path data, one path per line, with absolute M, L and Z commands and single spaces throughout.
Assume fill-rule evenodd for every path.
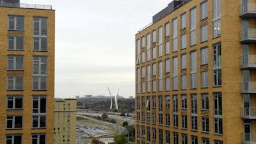
M 54 45 L 55 45 L 55 11 L 33 8 L 11 8 L 0 6 L 0 143 L 7 143 L 6 135 L 20 134 L 21 143 L 31 143 L 32 134 L 45 134 L 45 143 L 53 143 L 53 117 L 54 117 Z M 24 30 L 8 29 L 8 16 L 24 17 Z M 33 51 L 33 18 L 47 18 L 47 51 Z M 24 50 L 8 50 L 8 36 L 24 36 Z M 8 56 L 24 56 L 22 70 L 8 70 Z M 47 88 L 46 90 L 33 90 L 33 56 L 47 56 Z M 7 90 L 8 76 L 23 76 L 23 90 Z M 7 109 L 8 95 L 22 95 L 21 109 Z M 33 128 L 32 109 L 33 95 L 46 96 L 46 127 Z M 7 116 L 22 116 L 21 129 L 7 129 Z

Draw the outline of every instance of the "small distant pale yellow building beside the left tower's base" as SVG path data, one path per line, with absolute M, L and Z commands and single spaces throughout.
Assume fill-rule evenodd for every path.
M 54 102 L 54 144 L 76 143 L 76 99 Z

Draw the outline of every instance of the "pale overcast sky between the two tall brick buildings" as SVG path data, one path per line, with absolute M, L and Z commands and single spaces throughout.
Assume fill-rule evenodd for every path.
M 56 10 L 55 97 L 135 96 L 135 35 L 172 0 L 20 0 Z

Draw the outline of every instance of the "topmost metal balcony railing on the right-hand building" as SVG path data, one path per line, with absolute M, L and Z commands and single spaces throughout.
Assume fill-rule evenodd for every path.
M 240 17 L 256 17 L 256 3 L 244 3 L 239 6 Z

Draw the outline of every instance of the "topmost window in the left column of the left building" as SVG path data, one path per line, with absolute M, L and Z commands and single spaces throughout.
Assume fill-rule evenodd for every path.
M 24 30 L 24 16 L 8 16 L 8 30 Z

